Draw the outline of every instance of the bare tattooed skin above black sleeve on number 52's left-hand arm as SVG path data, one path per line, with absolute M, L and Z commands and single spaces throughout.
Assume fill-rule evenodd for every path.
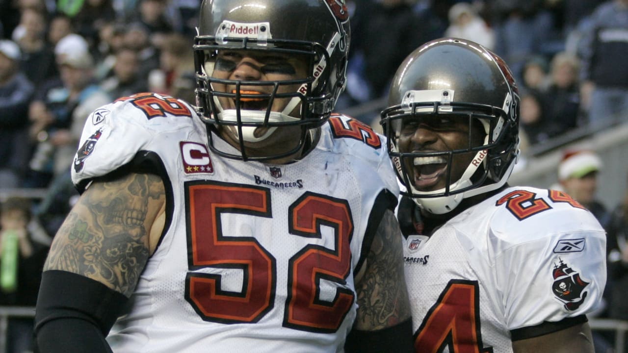
M 131 296 L 161 227 L 165 191 L 158 176 L 94 182 L 60 227 L 44 271 L 58 269 Z

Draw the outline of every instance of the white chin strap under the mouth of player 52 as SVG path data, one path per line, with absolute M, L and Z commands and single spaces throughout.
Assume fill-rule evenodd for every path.
M 293 98 L 292 100 L 300 101 L 300 99 L 298 98 Z M 217 106 L 220 107 L 219 102 L 216 102 L 216 104 Z M 292 102 L 288 104 L 288 107 L 291 106 L 291 104 Z M 286 107 L 286 109 L 288 107 Z M 288 114 L 284 114 L 286 109 L 284 109 L 283 112 L 270 112 L 270 115 L 268 117 L 268 122 L 286 122 L 286 121 L 300 120 L 298 117 L 291 117 Z M 240 114 L 241 114 L 240 118 L 242 122 L 261 123 L 261 122 L 264 122 L 264 119 L 266 119 L 266 111 L 249 111 L 249 110 L 241 109 Z M 236 109 L 222 110 L 222 107 L 220 107 L 220 112 L 218 113 L 218 119 L 220 119 L 220 121 L 237 122 L 237 110 Z M 256 137 L 255 131 L 257 128 L 258 128 L 257 126 L 242 126 L 242 139 L 246 142 L 263 141 L 264 139 L 268 138 L 268 136 L 271 136 L 271 134 L 273 134 L 274 131 L 277 129 L 276 126 L 269 127 L 268 130 L 266 130 L 264 134 Z M 234 132 L 236 133 L 238 138 L 240 138 L 237 126 L 234 126 Z

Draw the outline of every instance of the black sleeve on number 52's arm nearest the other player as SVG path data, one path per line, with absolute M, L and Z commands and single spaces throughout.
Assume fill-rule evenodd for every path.
M 377 331 L 351 330 L 346 353 L 412 353 L 412 319 Z

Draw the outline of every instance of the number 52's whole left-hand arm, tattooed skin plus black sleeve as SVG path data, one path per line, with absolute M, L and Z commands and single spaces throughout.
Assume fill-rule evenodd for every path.
M 111 352 L 105 337 L 131 296 L 165 219 L 158 176 L 94 182 L 60 227 L 35 312 L 41 353 Z

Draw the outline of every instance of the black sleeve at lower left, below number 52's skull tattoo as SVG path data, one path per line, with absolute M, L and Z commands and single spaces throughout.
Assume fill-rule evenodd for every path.
M 38 351 L 111 352 L 105 337 L 126 301 L 126 296 L 90 278 L 45 271 L 35 310 Z

